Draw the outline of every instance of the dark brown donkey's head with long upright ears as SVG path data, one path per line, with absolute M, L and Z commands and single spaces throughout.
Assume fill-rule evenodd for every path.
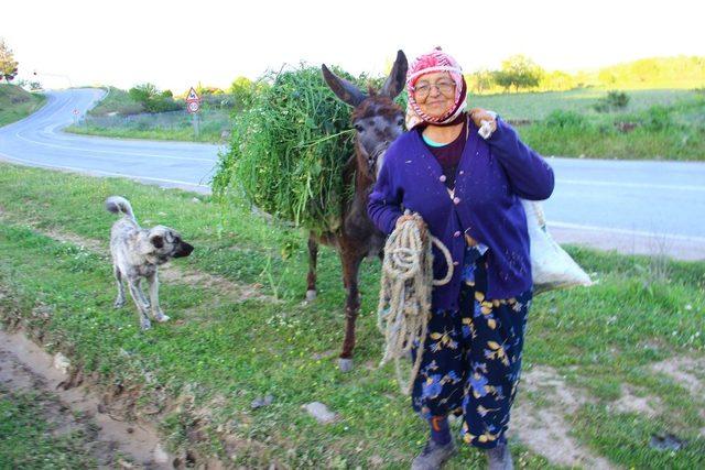
M 322 66 L 323 77 L 333 92 L 355 108 L 352 125 L 357 131 L 358 168 L 365 168 L 371 179 L 377 179 L 389 144 L 403 132 L 404 113 L 393 99 L 404 89 L 408 67 L 406 56 L 399 51 L 382 88 L 379 91 L 370 88 L 365 94 L 356 85 L 335 75 L 325 64 Z

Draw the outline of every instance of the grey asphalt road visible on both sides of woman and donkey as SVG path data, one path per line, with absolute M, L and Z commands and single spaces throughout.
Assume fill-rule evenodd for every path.
M 0 128 L 0 159 L 32 166 L 207 193 L 217 145 L 67 134 L 102 90 L 48 94 L 29 118 Z M 705 164 L 549 157 L 556 187 L 544 203 L 561 243 L 705 260 Z

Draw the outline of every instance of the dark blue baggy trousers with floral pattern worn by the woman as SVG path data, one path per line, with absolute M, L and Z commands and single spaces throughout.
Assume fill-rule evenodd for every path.
M 466 249 L 459 310 L 432 314 L 412 391 L 416 413 L 425 419 L 463 415 L 463 440 L 480 448 L 506 441 L 532 299 L 531 289 L 486 298 L 486 259 L 477 248 Z

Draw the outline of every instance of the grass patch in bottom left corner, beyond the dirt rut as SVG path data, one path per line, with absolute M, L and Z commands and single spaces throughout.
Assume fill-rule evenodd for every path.
M 82 431 L 57 433 L 42 414 L 46 398 L 0 387 L 0 468 L 96 468 Z

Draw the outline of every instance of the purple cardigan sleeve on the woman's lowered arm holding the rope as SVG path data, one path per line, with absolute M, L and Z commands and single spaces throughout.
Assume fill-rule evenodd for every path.
M 387 234 L 390 234 L 397 226 L 397 219 L 402 214 L 401 203 L 403 200 L 401 189 L 394 185 L 392 166 L 392 159 L 384 159 L 367 204 L 367 214 L 370 219 L 378 229 Z

